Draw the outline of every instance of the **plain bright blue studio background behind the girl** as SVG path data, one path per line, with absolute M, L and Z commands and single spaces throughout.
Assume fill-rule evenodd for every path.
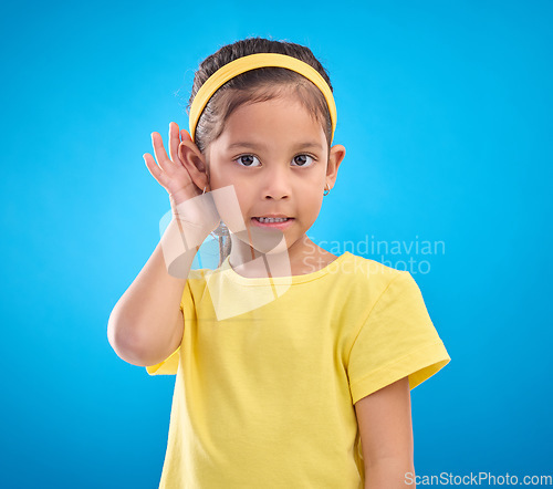
M 553 474 L 551 2 L 0 13 L 0 486 L 157 487 L 175 377 L 118 358 L 107 319 L 169 210 L 150 133 L 187 128 L 199 62 L 251 35 L 310 46 L 335 89 L 347 155 L 310 237 L 444 242 L 364 253 L 428 262 L 414 278 L 452 358 L 411 393 L 417 475 Z

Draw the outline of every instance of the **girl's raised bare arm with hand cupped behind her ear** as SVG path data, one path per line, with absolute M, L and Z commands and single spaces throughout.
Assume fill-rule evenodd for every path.
M 107 325 L 107 339 L 115 353 L 139 366 L 160 363 L 180 344 L 185 326 L 180 300 L 186 280 L 198 247 L 220 221 L 211 195 L 202 195 L 200 189 L 208 185 L 205 159 L 190 135 L 179 132 L 177 124 L 169 124 L 171 158 L 158 133 L 152 133 L 152 142 L 159 166 L 148 153 L 144 159 L 169 194 L 173 219 L 115 304 Z

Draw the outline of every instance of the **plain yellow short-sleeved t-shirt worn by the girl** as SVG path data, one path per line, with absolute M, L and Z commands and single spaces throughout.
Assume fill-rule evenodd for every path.
M 180 308 L 180 346 L 146 367 L 177 375 L 161 489 L 363 488 L 354 404 L 450 360 L 410 273 L 349 252 L 272 279 L 227 258 Z

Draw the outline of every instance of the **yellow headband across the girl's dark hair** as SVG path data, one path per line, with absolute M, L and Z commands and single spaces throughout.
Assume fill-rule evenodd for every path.
M 317 86 L 317 89 L 323 93 L 326 104 L 328 105 L 328 112 L 332 121 L 332 142 L 334 138 L 334 131 L 336 128 L 336 104 L 334 103 L 331 87 L 321 76 L 321 73 L 319 73 L 313 66 L 310 66 L 307 63 L 304 63 L 296 58 L 278 53 L 258 53 L 239 58 L 238 60 L 227 63 L 209 76 L 206 83 L 204 83 L 200 90 L 198 90 L 198 93 L 194 97 L 192 105 L 190 106 L 189 124 L 192 141 L 195 141 L 198 119 L 200 118 L 207 103 L 219 90 L 219 87 L 241 73 L 265 66 L 285 67 L 288 70 L 295 71 Z

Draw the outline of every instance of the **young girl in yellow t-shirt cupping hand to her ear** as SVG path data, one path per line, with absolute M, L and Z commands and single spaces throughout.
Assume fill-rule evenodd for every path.
M 326 71 L 247 39 L 190 103 L 170 156 L 158 133 L 144 156 L 173 219 L 108 325 L 123 360 L 177 375 L 159 487 L 414 487 L 409 391 L 450 358 L 409 272 L 306 236 L 345 156 Z M 218 268 L 190 270 L 210 232 Z

